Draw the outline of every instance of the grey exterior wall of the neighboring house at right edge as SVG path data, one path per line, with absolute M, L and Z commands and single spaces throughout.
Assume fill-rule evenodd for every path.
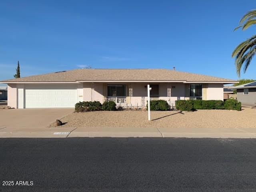
M 256 102 L 256 88 L 249 88 L 249 94 L 244 95 L 244 89 L 237 89 L 237 100 L 242 104 L 255 105 Z

